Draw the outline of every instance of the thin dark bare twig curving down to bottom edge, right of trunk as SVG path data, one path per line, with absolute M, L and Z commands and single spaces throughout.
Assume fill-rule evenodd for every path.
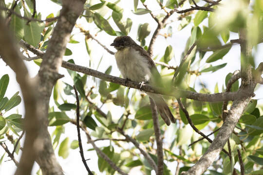
M 75 90 L 75 95 L 76 95 L 76 126 L 77 126 L 77 138 L 78 138 L 78 146 L 79 146 L 79 153 L 82 159 L 82 162 L 86 168 L 86 170 L 88 171 L 89 175 L 93 175 L 93 173 L 91 172 L 90 168 L 87 165 L 86 159 L 84 157 L 84 153 L 83 153 L 83 148 L 82 148 L 82 143 L 81 143 L 81 137 L 80 137 L 80 129 L 79 129 L 79 100 L 78 100 L 78 94 L 77 94 L 77 90 L 75 88 L 75 85 L 73 86 L 74 90 Z

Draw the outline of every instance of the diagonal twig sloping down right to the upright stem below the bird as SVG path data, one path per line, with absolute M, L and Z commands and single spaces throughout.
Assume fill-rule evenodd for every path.
M 157 168 L 157 165 L 155 164 L 154 160 L 150 157 L 150 155 L 149 155 L 146 151 L 144 151 L 143 149 L 140 148 L 139 143 L 138 143 L 136 140 L 132 139 L 132 138 L 131 138 L 130 136 L 128 136 L 127 134 L 124 134 L 124 132 L 123 132 L 122 130 L 120 130 L 120 129 L 117 128 L 117 131 L 118 131 L 119 133 L 121 133 L 127 140 L 131 141 L 131 142 L 134 144 L 134 146 L 135 146 L 138 150 L 140 150 L 140 152 L 142 153 L 142 155 L 147 159 L 147 161 L 149 162 L 149 164 L 151 165 L 151 167 L 153 168 L 153 170 L 154 170 L 155 172 L 158 172 L 158 168 Z

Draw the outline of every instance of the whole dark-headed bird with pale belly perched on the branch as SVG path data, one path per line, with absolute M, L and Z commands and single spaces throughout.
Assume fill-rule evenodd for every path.
M 152 86 L 160 86 L 161 75 L 150 55 L 130 36 L 117 36 L 111 46 L 117 50 L 114 54 L 117 67 L 123 78 L 141 84 L 148 83 Z M 157 110 L 167 125 L 176 123 L 169 106 L 161 94 L 146 92 L 153 99 Z

